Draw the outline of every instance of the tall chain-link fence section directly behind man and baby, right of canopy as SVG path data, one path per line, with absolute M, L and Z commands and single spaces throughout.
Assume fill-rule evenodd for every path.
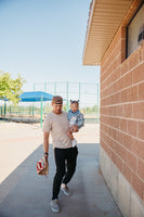
M 79 100 L 79 108 L 87 123 L 99 123 L 100 119 L 100 85 L 94 82 L 53 81 L 34 84 L 34 90 L 44 91 L 53 95 L 62 95 L 64 110 L 69 110 L 70 100 Z M 47 108 L 48 106 L 45 106 Z M 50 107 L 51 110 L 51 107 Z M 45 112 L 49 112 L 45 111 Z

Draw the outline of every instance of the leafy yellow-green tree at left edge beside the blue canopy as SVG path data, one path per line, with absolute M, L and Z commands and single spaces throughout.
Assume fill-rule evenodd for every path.
M 24 82 L 25 80 L 19 74 L 16 79 L 12 79 L 10 73 L 0 72 L 0 99 L 9 99 L 16 105 L 19 101 L 19 94 L 23 92 Z

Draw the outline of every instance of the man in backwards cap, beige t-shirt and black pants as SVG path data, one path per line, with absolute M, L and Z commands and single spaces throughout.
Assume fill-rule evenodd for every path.
M 71 146 L 70 138 L 67 135 L 69 123 L 67 119 L 67 113 L 62 111 L 62 97 L 53 97 L 52 106 L 52 112 L 48 114 L 43 123 L 43 150 L 45 161 L 48 161 L 49 136 L 51 132 L 56 165 L 56 174 L 53 179 L 51 207 L 53 212 L 60 212 L 60 189 L 65 195 L 70 195 L 67 183 L 70 181 L 76 169 L 78 149 L 77 146 Z M 78 131 L 78 128 L 76 131 Z

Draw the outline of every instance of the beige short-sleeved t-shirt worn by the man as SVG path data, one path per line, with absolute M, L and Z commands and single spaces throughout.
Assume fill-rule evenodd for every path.
M 55 114 L 53 112 L 49 113 L 42 128 L 43 131 L 51 132 L 53 149 L 71 148 L 70 138 L 67 135 L 69 123 L 66 112 L 62 112 L 61 114 Z

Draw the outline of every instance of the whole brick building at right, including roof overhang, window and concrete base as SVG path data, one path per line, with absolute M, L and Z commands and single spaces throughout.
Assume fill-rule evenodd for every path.
M 144 1 L 93 0 L 83 65 L 101 65 L 101 170 L 123 216 L 144 217 Z

